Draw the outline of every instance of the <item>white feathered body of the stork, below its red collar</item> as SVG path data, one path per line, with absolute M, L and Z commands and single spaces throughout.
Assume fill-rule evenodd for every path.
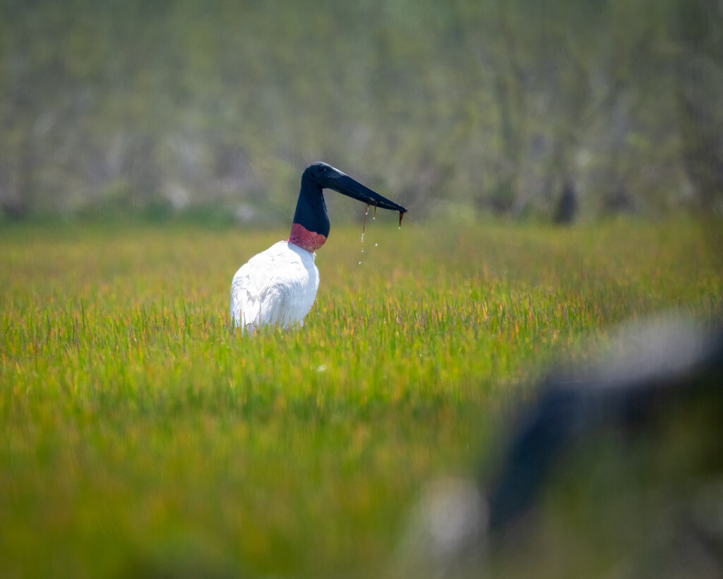
M 314 254 L 279 241 L 241 266 L 231 282 L 231 319 L 254 333 L 263 325 L 303 325 L 319 288 Z

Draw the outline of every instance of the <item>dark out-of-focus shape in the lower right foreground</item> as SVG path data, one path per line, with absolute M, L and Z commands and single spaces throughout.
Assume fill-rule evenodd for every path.
M 398 572 L 720 578 L 722 441 L 723 328 L 625 327 L 542 382 L 479 484 L 429 486 Z

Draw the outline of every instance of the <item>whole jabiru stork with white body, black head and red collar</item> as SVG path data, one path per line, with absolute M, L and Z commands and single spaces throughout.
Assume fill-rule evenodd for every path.
M 304 325 L 319 288 L 315 251 L 329 236 L 329 215 L 322 189 L 352 197 L 374 207 L 399 212 L 406 209 L 367 189 L 327 163 L 312 163 L 301 174 L 301 191 L 294 223 L 286 241 L 279 241 L 252 257 L 231 282 L 231 320 L 242 333 L 260 327 L 284 329 Z

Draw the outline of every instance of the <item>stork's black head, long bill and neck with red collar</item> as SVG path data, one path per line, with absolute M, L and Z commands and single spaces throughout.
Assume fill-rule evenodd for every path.
M 294 224 L 288 240 L 310 252 L 319 249 L 329 236 L 329 215 L 322 189 L 334 191 L 364 202 L 367 205 L 406 213 L 406 209 L 393 201 L 367 189 L 350 176 L 327 163 L 312 163 L 301 174 L 301 192 L 296 203 Z

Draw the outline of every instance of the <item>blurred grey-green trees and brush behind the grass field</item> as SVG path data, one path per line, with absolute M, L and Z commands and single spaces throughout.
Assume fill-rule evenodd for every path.
M 5 218 L 720 211 L 719 0 L 0 0 Z

